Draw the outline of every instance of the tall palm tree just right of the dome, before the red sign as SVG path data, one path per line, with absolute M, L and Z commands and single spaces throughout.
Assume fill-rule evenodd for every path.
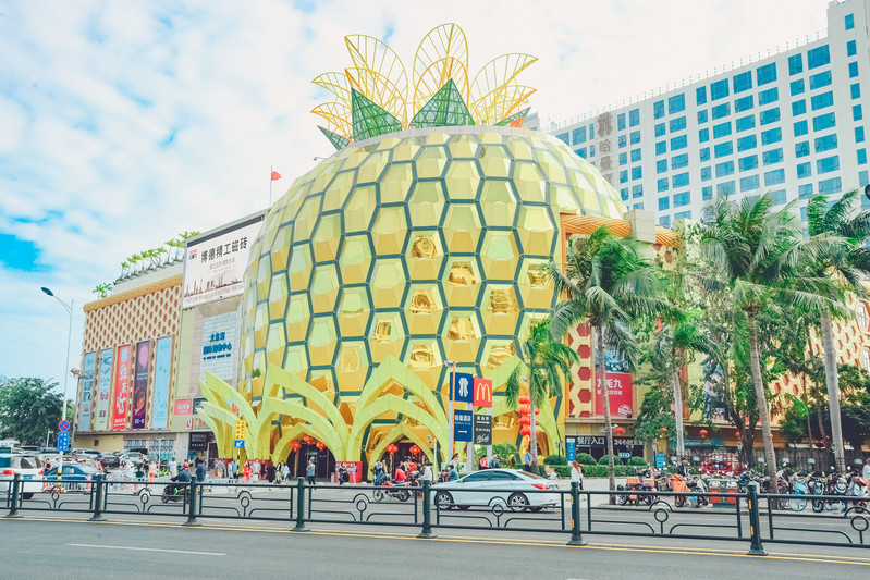
M 669 310 L 662 296 L 660 273 L 640 255 L 637 240 L 620 238 L 601 226 L 588 238 L 572 238 L 566 249 L 565 271 L 551 261 L 550 275 L 556 292 L 565 293 L 565 299 L 553 308 L 550 324 L 553 338 L 564 340 L 571 329 L 584 321 L 595 330 L 600 385 L 597 387 L 602 392 L 608 476 L 610 489 L 615 490 L 604 351 L 621 350 L 629 368 L 636 367 L 638 353 L 632 323 L 637 318 Z

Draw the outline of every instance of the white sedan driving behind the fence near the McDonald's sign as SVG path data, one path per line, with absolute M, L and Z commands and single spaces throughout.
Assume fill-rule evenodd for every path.
M 555 481 L 518 469 L 483 469 L 457 481 L 432 485 L 433 502 L 439 509 L 501 505 L 514 511 L 540 511 L 560 505 Z

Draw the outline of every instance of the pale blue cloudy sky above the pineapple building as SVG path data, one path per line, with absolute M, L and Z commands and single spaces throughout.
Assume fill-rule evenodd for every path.
M 853 0 L 854 1 L 854 0 Z M 0 0 L 0 377 L 63 383 L 91 289 L 131 254 L 264 209 L 334 149 L 310 81 L 351 65 L 343 37 L 412 67 L 454 22 L 471 72 L 540 60 L 519 81 L 554 121 L 825 34 L 825 0 Z M 70 381 L 70 391 L 74 382 Z

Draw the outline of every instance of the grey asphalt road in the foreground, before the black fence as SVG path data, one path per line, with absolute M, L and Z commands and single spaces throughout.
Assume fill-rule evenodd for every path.
M 167 521 L 88 522 L 27 514 L 0 520 L 0 577 L 51 569 L 77 578 L 866 578 L 870 558 L 794 551 L 765 557 L 745 550 L 481 540 L 284 529 L 243 525 L 184 528 Z M 861 551 L 863 552 L 863 551 Z M 49 556 L 50 554 L 50 556 Z M 727 570 L 727 573 L 723 571 Z

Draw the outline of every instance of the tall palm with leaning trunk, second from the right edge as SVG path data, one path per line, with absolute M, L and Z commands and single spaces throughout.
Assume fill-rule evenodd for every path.
M 791 206 L 773 211 L 769 194 L 728 203 L 720 196 L 712 219 L 701 226 L 701 257 L 708 271 L 704 288 L 724 292 L 746 317 L 750 374 L 761 419 L 761 434 L 771 488 L 776 493 L 776 455 L 764 393 L 759 348 L 759 314 L 775 298 L 791 307 L 821 307 L 826 300 L 818 279 L 806 274 L 800 261 L 812 255 L 802 243 L 801 224 Z

